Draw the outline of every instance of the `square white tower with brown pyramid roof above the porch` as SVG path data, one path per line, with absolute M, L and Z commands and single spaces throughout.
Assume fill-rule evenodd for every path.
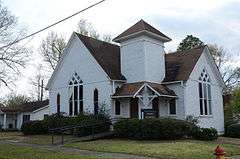
M 140 20 L 113 39 L 120 43 L 121 71 L 127 82 L 161 83 L 165 77 L 164 43 L 169 37 Z

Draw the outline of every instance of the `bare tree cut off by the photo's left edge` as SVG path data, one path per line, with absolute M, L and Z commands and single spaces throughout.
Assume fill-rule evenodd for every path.
M 17 19 L 0 1 L 0 86 L 9 86 L 24 67 L 29 50 L 15 41 L 25 35 L 25 30 L 17 25 Z M 3 47 L 7 46 L 7 47 Z

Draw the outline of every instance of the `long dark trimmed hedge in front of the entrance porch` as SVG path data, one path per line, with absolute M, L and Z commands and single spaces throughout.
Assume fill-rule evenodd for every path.
M 117 137 L 131 139 L 180 139 L 195 125 L 178 119 L 122 119 L 114 124 Z

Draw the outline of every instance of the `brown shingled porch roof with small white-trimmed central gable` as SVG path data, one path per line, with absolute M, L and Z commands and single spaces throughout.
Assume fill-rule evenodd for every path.
M 125 83 L 112 95 L 112 98 L 133 97 L 146 85 L 152 91 L 156 92 L 158 96 L 177 97 L 175 92 L 169 89 L 166 85 L 152 83 L 152 82 L 135 82 Z

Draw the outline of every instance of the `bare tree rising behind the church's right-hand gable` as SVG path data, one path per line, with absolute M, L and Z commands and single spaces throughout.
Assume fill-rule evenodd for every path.
M 223 47 L 220 47 L 217 44 L 209 44 L 208 47 L 219 71 L 221 72 L 223 81 L 226 85 L 225 91 L 229 92 L 240 82 L 240 67 L 233 68 L 229 66 L 231 57 Z

